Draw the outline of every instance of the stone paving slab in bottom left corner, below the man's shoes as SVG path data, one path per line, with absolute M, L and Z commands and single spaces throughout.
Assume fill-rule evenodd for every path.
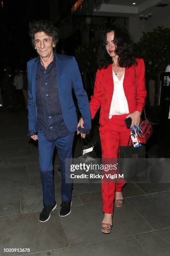
M 57 211 L 52 212 L 50 220 L 38 221 L 40 212 L 1 217 L 0 254 L 3 248 L 30 248 L 30 253 L 49 251 L 69 246 Z M 13 253 L 13 255 L 28 253 Z

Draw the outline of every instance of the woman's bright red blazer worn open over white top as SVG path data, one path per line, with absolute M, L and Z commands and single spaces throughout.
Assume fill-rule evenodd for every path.
M 145 64 L 143 59 L 136 59 L 137 65 L 125 68 L 125 76 L 123 80 L 123 88 L 125 96 L 128 102 L 129 113 L 133 113 L 138 110 L 142 113 L 145 105 Z M 135 89 L 135 72 L 136 72 L 136 87 Z M 93 119 L 95 113 L 100 108 L 100 125 L 107 122 L 110 113 L 110 105 L 112 101 L 112 95 L 114 90 L 113 76 L 112 76 L 112 64 L 107 69 L 98 69 L 95 78 L 94 94 L 90 100 L 90 112 Z M 135 92 L 136 92 L 136 104 L 135 104 Z

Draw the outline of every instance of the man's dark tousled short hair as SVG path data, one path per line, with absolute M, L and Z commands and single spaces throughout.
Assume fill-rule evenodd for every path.
M 49 20 L 38 20 L 30 22 L 30 37 L 32 40 L 32 45 L 34 44 L 34 35 L 37 32 L 44 32 L 47 36 L 52 36 L 52 41 L 54 44 L 57 44 L 58 42 L 58 29 L 54 26 L 52 22 Z

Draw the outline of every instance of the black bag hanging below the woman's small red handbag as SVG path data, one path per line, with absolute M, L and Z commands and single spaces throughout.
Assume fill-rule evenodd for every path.
M 120 146 L 119 150 L 119 174 L 123 174 L 125 182 L 142 182 L 140 174 L 146 170 L 145 146 L 134 148 L 129 146 Z M 145 174 L 144 174 L 145 176 Z

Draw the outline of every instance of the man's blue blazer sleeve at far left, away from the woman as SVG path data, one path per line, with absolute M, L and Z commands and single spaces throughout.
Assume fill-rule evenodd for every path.
M 27 63 L 27 76 L 28 76 L 28 133 L 27 136 L 32 136 L 35 133 L 33 132 L 33 98 L 32 98 L 32 90 L 31 90 L 31 81 L 30 81 L 30 67 L 29 64 Z

